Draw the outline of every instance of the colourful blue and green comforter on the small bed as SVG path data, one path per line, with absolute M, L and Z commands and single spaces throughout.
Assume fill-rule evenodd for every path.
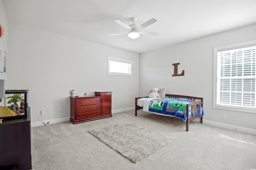
M 184 100 L 184 99 L 172 99 L 172 98 L 157 98 L 157 99 L 147 99 L 144 100 L 143 111 L 149 111 L 152 113 L 159 113 L 162 115 L 169 115 L 183 119 L 187 121 L 187 104 L 196 103 L 194 100 Z M 204 111 L 202 106 L 199 106 L 199 115 L 203 116 Z M 144 109 L 145 108 L 145 109 Z M 191 109 L 195 109 L 192 106 L 189 107 L 189 118 L 191 118 Z

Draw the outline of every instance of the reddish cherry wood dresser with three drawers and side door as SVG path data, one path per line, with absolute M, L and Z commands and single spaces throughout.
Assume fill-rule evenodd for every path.
M 112 92 L 95 92 L 95 96 L 70 97 L 70 121 L 73 124 L 112 117 Z

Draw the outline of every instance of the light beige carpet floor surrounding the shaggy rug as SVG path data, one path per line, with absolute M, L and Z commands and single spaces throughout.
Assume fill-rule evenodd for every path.
M 136 164 L 88 132 L 127 122 L 174 140 Z M 256 136 L 210 125 L 186 123 L 174 117 L 134 110 L 79 123 L 55 123 L 31 128 L 35 170 L 250 170 L 256 169 Z

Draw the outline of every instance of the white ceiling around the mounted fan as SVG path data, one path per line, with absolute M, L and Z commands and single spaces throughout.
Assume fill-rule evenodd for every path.
M 2 0 L 9 23 L 144 53 L 176 43 L 256 23 L 256 0 Z M 155 18 L 130 41 L 127 25 Z

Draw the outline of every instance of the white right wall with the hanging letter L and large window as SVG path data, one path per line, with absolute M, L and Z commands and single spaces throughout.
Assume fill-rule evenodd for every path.
M 256 132 L 255 113 L 214 109 L 213 106 L 213 48 L 256 39 L 256 24 L 194 39 L 184 43 L 140 54 L 140 96 L 150 88 L 166 87 L 166 94 L 180 94 L 204 98 L 204 123 Z M 178 65 L 174 74 L 173 63 Z M 222 113 L 226 119 L 222 119 Z

